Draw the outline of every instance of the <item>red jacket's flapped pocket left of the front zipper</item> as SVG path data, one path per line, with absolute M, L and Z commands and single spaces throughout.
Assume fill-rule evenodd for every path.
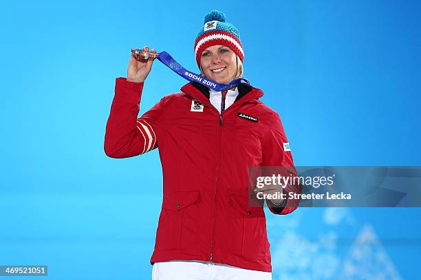
M 164 194 L 155 248 L 176 250 L 194 248 L 199 217 L 199 191 Z

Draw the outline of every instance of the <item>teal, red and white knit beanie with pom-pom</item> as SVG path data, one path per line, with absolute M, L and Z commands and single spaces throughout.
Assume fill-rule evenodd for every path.
M 213 10 L 204 16 L 204 25 L 200 27 L 195 40 L 195 56 L 197 66 L 200 68 L 202 52 L 213 45 L 224 45 L 232 49 L 241 60 L 244 60 L 243 45 L 239 39 L 237 28 L 231 23 L 226 23 L 223 12 Z

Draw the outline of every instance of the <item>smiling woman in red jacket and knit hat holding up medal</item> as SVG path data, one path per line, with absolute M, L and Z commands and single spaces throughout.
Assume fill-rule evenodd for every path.
M 239 32 L 222 12 L 205 16 L 195 56 L 202 75 L 221 84 L 243 75 Z M 265 213 L 248 204 L 248 167 L 293 166 L 279 115 L 249 84 L 217 92 L 189 82 L 138 118 L 152 64 L 153 58 L 132 55 L 127 79 L 116 79 L 105 152 L 124 158 L 159 145 L 164 198 L 153 279 L 271 279 Z M 274 194 L 279 188 L 259 191 Z M 289 185 L 285 191 L 301 189 Z M 288 198 L 266 202 L 281 215 L 297 207 Z

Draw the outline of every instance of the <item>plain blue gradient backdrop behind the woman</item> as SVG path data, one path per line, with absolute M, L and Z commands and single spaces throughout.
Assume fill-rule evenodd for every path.
M 239 29 L 245 76 L 281 115 L 296 165 L 421 165 L 420 3 L 3 3 L 0 265 L 45 264 L 48 279 L 150 278 L 162 171 L 156 150 L 103 152 L 114 79 L 143 45 L 197 71 L 194 38 L 212 9 Z M 184 83 L 155 62 L 140 113 Z M 419 208 L 328 210 L 268 215 L 273 279 L 336 279 L 367 224 L 389 267 L 417 278 Z M 301 255 L 283 250 L 287 235 Z M 323 262 L 313 249 L 326 235 L 336 245 Z

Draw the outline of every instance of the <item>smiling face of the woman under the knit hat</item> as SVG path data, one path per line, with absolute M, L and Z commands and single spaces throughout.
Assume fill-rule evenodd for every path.
M 237 56 L 229 47 L 213 45 L 202 52 L 200 66 L 206 78 L 228 84 L 237 75 Z

